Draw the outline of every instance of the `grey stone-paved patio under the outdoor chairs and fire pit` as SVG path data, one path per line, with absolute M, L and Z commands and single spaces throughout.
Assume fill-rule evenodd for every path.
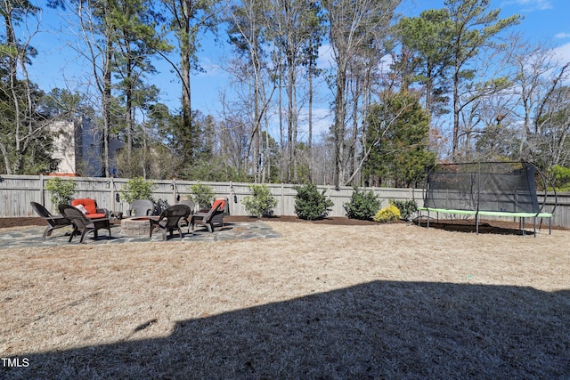
M 68 243 L 70 227 L 64 227 L 58 230 L 53 230 L 52 236 L 42 240 L 45 226 L 23 226 L 18 229 L 0 230 L 0 249 L 13 248 L 13 247 L 57 247 L 69 246 L 79 243 L 79 236 L 73 238 L 71 243 Z M 124 236 L 121 234 L 120 224 L 111 225 L 111 238 L 109 238 L 108 230 L 99 230 L 99 238 L 94 239 L 93 233 L 87 235 L 85 244 L 122 244 L 134 242 L 161 242 L 162 232 L 157 229 L 152 232 L 152 238 L 146 236 Z M 235 240 L 235 239 L 272 239 L 279 238 L 281 235 L 275 231 L 265 222 L 227 222 L 224 227 L 216 227 L 214 233 L 209 233 L 205 227 L 197 226 L 196 230 L 187 233 L 188 229 L 183 228 L 183 239 L 178 237 L 177 232 L 170 237 L 168 242 L 176 242 L 183 244 L 184 242 L 192 241 L 221 241 L 221 240 Z

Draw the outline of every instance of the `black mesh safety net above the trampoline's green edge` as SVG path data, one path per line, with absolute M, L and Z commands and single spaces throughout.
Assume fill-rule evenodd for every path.
M 540 213 L 535 171 L 527 162 L 438 164 L 428 168 L 424 206 L 509 213 Z

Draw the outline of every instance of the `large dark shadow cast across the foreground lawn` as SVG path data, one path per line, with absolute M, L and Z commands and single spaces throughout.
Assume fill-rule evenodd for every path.
M 127 342 L 12 358 L 29 365 L 0 378 L 570 377 L 568 290 L 374 281 L 134 340 L 157 321 Z

